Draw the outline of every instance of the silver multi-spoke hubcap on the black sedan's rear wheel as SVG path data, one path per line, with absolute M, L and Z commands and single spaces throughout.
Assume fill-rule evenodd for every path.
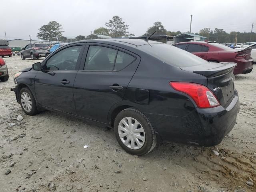
M 140 149 L 145 142 L 144 128 L 132 117 L 123 118 L 118 125 L 118 134 L 123 144 L 131 149 Z

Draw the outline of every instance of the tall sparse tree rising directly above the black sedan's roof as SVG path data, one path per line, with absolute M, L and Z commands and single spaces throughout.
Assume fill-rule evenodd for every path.
M 112 20 L 108 20 L 105 25 L 109 28 L 110 35 L 112 37 L 122 37 L 129 33 L 127 31 L 129 25 L 126 25 L 122 18 L 119 16 L 113 16 Z

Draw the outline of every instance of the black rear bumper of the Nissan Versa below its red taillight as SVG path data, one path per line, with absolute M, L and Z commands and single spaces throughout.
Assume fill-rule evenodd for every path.
M 195 109 L 184 117 L 146 114 L 162 142 L 214 146 L 219 144 L 236 124 L 239 112 L 239 98 L 222 106 Z

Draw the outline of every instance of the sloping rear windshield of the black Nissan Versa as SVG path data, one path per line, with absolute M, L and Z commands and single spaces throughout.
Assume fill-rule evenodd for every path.
M 137 48 L 158 58 L 162 62 L 176 67 L 190 67 L 207 62 L 190 52 L 168 44 L 146 44 Z

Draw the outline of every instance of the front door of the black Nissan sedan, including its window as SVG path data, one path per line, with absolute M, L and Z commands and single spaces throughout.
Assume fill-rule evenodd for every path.
M 35 77 L 35 92 L 41 106 L 76 114 L 73 84 L 80 65 L 82 45 L 56 52 L 42 64 Z

